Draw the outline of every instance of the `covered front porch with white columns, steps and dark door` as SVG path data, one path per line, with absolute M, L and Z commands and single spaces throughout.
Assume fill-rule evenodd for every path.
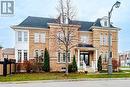
M 96 72 L 98 53 L 93 46 L 78 46 L 75 49 L 77 55 L 78 72 Z

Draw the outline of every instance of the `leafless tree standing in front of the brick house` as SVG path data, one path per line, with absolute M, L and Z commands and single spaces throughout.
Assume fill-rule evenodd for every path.
M 77 45 L 76 38 L 76 25 L 72 22 L 75 12 L 72 7 L 71 0 L 59 0 L 59 5 L 57 6 L 57 10 L 60 14 L 59 16 L 59 30 L 56 35 L 58 48 L 65 52 L 65 64 L 66 64 L 66 75 L 68 75 L 68 58 L 69 51 L 71 48 Z

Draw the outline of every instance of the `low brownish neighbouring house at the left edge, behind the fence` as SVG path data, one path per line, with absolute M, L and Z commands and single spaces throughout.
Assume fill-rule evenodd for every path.
M 4 58 L 15 59 L 15 49 L 14 48 L 0 49 L 0 60 L 4 61 Z

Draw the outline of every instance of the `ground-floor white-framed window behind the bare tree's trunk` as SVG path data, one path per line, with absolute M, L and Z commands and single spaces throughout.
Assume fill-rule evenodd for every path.
M 66 62 L 66 54 L 62 52 L 58 52 L 58 62 L 65 63 Z M 70 52 L 68 53 L 68 62 L 70 62 Z

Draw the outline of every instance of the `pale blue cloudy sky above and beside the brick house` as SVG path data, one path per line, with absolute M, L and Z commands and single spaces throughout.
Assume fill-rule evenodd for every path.
M 112 5 L 117 0 L 72 0 L 76 10 L 76 20 L 96 21 L 97 18 L 107 16 Z M 130 50 L 130 0 L 119 0 L 120 8 L 114 8 L 111 22 L 119 27 L 119 52 Z M 15 46 L 14 30 L 12 25 L 21 23 L 28 16 L 51 17 L 58 16 L 56 7 L 58 0 L 15 0 L 13 16 L 0 15 L 0 45 L 4 48 Z

